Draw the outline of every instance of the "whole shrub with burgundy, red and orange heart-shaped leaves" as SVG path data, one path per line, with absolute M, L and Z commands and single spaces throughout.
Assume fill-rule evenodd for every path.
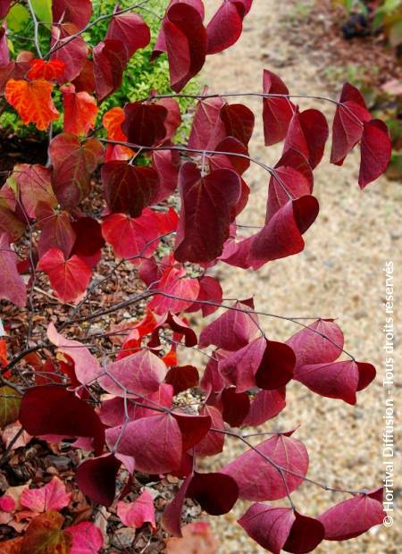
M 9 5 L 0 4 L 4 13 Z M 307 450 L 294 430 L 257 433 L 263 438 L 257 445 L 243 432 L 281 413 L 291 380 L 354 405 L 375 376 L 373 365 L 343 348 L 333 320 L 305 323 L 265 314 L 252 299 L 228 304 L 220 282 L 208 274 L 215 264 L 256 271 L 297 254 L 319 211 L 313 170 L 322 160 L 328 123 L 316 109 L 300 111 L 298 96 L 271 71 L 264 71 L 259 93 L 223 98 L 205 89 L 197 95 L 188 141 L 173 139 L 180 125 L 175 98 L 206 55 L 237 41 L 252 0 L 223 2 L 206 27 L 200 0 L 172 0 L 154 55 L 167 53 L 174 93 L 115 106 L 104 114 L 103 128 L 96 126 L 99 106 L 121 87 L 130 57 L 147 46 L 147 24 L 135 8 L 107 14 L 107 34 L 90 45 L 88 65 L 82 29 L 90 0 L 54 0 L 52 11 L 46 6 L 29 1 L 38 57 L 20 55 L 2 67 L 5 99 L 25 124 L 48 130 L 59 118 L 54 90 L 63 101 L 63 132 L 50 139 L 49 164 L 15 166 L 1 189 L 0 298 L 8 301 L 4 327 L 10 337 L 0 343 L 0 426 L 13 437 L 3 463 L 17 444 L 62 441 L 80 457 L 72 490 L 78 486 L 92 505 L 74 519 L 71 492 L 57 478 L 43 487 L 12 488 L 0 508 L 24 532 L 4 549 L 97 552 L 102 533 L 82 521 L 83 513 L 95 515 L 96 504 L 121 525 L 162 525 L 180 536 L 186 499 L 214 516 L 238 499 L 249 500 L 239 525 L 273 553 L 307 552 L 324 539 L 343 541 L 380 524 L 381 488 L 345 491 L 307 477 Z M 53 24 L 54 44 L 46 52 L 38 18 L 52 16 L 59 24 Z M 283 142 L 274 167 L 248 154 L 255 115 L 238 97 L 251 94 L 262 98 L 265 145 Z M 359 144 L 364 189 L 389 162 L 388 130 L 348 83 L 339 100 L 329 102 L 335 106 L 331 163 L 342 165 Z M 247 205 L 242 175 L 251 164 L 263 167 L 270 182 L 264 226 L 245 237 L 236 218 Z M 178 210 L 171 202 L 177 189 Z M 108 289 L 113 282 L 119 286 Z M 49 296 L 50 308 L 44 305 Z M 24 318 L 18 332 L 9 323 L 12 304 Z M 134 318 L 108 319 L 128 309 Z M 217 309 L 221 314 L 198 336 L 186 314 Z M 298 332 L 286 342 L 268 340 L 263 318 L 270 316 L 294 323 Z M 180 363 L 181 348 L 205 355 L 201 374 Z M 197 458 L 219 455 L 225 441 L 240 441 L 245 452 L 218 472 L 198 471 Z M 134 501 L 123 499 L 132 499 L 147 480 L 162 486 L 166 474 L 182 483 L 156 524 L 147 489 Z M 350 498 L 306 516 L 292 497 L 302 483 Z M 284 504 L 264 503 L 273 500 Z M 22 517 L 29 525 L 21 529 Z M 109 535 L 114 530 L 111 523 Z

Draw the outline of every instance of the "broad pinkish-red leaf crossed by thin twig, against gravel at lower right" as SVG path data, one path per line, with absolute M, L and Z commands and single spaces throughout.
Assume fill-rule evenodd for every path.
M 254 449 L 222 468 L 222 473 L 229 474 L 239 485 L 239 498 L 245 500 L 278 500 L 287 495 L 284 480 L 289 492 L 295 491 L 304 481 L 308 468 L 308 454 L 305 445 L 281 434 L 261 442 Z M 281 466 L 283 478 L 273 464 Z M 294 472 L 294 473 L 289 473 Z

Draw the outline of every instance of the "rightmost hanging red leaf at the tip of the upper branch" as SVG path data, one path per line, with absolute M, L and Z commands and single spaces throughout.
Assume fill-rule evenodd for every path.
M 388 167 L 392 151 L 389 130 L 384 122 L 373 119 L 364 122 L 360 143 L 359 186 L 364 189 L 372 180 L 376 180 Z

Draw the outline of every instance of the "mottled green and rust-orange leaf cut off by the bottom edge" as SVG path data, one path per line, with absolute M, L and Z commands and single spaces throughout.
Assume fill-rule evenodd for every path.
M 21 554 L 68 554 L 71 534 L 62 530 L 64 517 L 57 512 L 46 512 L 29 524 L 21 544 Z

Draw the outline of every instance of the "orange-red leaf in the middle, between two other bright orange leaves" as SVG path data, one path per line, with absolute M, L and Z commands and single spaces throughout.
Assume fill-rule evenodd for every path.
M 64 104 L 63 130 L 73 135 L 86 135 L 94 129 L 97 115 L 97 105 L 94 97 L 88 92 L 75 92 L 74 85 L 62 87 Z

